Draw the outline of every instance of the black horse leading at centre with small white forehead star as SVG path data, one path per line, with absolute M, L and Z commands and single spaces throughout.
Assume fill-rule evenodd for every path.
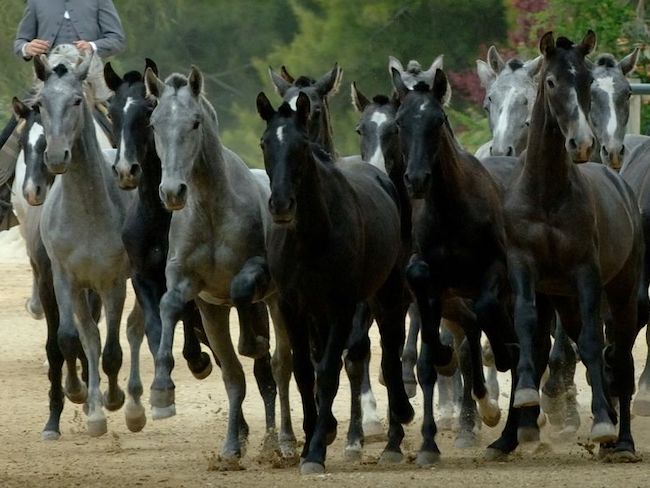
M 367 301 L 379 324 L 390 430 L 399 431 L 393 436 L 399 442 L 401 424 L 410 422 L 414 412 L 400 366 L 406 310 L 400 299 L 404 279 L 394 186 L 365 163 L 334 164 L 329 153 L 309 140 L 308 95 L 298 94 L 295 107 L 294 112 L 284 102 L 276 111 L 263 93 L 257 98 L 267 123 L 262 150 L 274 221 L 267 257 L 303 401 L 301 472 L 307 474 L 324 470 L 326 445 L 336 435 L 332 402 L 358 303 Z

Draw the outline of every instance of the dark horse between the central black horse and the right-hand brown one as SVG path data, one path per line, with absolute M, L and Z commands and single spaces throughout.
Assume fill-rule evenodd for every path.
M 516 343 L 516 336 L 507 314 L 501 193 L 481 163 L 456 142 L 443 109 L 448 90 L 444 72 L 436 71 L 432 87 L 419 83 L 412 90 L 398 70 L 392 74 L 400 98 L 396 122 L 407 164 L 404 179 L 415 200 L 415 256 L 407 278 L 422 317 L 418 379 L 424 391 L 432 392 L 433 366 L 446 373 L 455 362 L 453 351 L 440 341 L 439 327 L 442 316 L 456 321 L 471 349 L 473 392 L 481 408 L 490 402 L 481 368 L 481 331 L 490 339 L 499 370 L 514 370 L 516 364 L 511 354 L 516 355 L 516 348 L 506 347 Z M 459 310 L 454 301 L 468 303 L 469 313 L 454 314 Z M 517 443 L 517 416 L 509 416 L 497 441 L 511 449 Z M 533 423 L 534 418 L 536 413 Z M 439 453 L 435 433 L 433 415 L 425 411 L 421 456 L 435 459 Z

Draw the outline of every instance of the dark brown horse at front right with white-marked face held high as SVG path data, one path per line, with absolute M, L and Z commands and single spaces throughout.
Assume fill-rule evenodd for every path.
M 553 297 L 563 326 L 578 344 L 592 387 L 591 438 L 615 445 L 616 458 L 635 458 L 630 430 L 634 391 L 631 349 L 637 335 L 637 290 L 643 263 L 643 235 L 629 187 L 600 164 L 586 161 L 595 142 L 587 117 L 591 70 L 585 63 L 596 43 L 593 32 L 574 45 L 552 33 L 540 41 L 544 56 L 533 108 L 528 151 L 521 172 L 509 187 L 504 211 L 508 267 L 515 294 L 519 336 L 519 380 L 514 404 L 539 404 L 533 352 L 538 348 L 535 294 Z M 606 363 L 613 368 L 612 394 L 603 373 L 601 292 L 612 314 Z

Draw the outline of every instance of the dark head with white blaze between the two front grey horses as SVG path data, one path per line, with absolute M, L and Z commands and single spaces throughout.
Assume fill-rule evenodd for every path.
M 148 58 L 145 71 L 147 68 L 158 75 L 156 64 Z M 154 106 L 146 97 L 144 77 L 138 71 L 130 71 L 122 78 L 111 63 L 107 63 L 104 79 L 115 93 L 110 106 L 113 137 L 117 143 L 113 173 L 120 188 L 131 190 L 140 182 L 147 153 L 155 151 L 153 131 L 149 125 Z

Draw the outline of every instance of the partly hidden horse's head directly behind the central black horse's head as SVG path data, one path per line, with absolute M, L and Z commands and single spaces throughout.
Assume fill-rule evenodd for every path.
M 343 70 L 338 64 L 334 64 L 334 67 L 318 80 L 308 76 L 294 78 L 284 66 L 282 66 L 281 74 L 269 68 L 269 75 L 277 93 L 292 109 L 295 110 L 300 93 L 307 95 L 311 107 L 308 127 L 309 139 L 333 150 L 328 97 L 336 93 L 341 84 Z

